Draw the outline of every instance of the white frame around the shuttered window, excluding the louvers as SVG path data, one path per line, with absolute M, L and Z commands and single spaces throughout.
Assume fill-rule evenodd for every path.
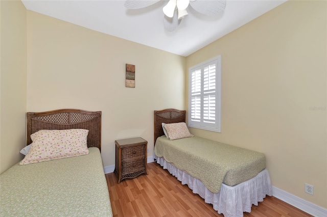
M 204 68 L 208 67 L 209 65 L 216 64 L 216 87 L 215 87 L 215 123 L 214 124 L 207 124 L 203 120 L 203 97 L 201 98 L 201 110 L 200 110 L 200 121 L 193 121 L 192 120 L 192 72 L 195 72 L 201 69 L 201 96 L 204 95 Z M 202 63 L 197 64 L 196 66 L 192 66 L 189 68 L 189 109 L 188 109 L 188 126 L 210 130 L 215 132 L 221 132 L 221 55 L 214 57 L 210 60 L 206 60 Z

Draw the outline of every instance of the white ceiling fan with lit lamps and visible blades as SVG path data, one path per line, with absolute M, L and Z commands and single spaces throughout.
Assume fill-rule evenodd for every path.
M 160 0 L 126 0 L 125 7 L 128 9 L 140 9 L 153 5 Z M 169 0 L 162 8 L 164 11 L 165 28 L 172 32 L 177 29 L 182 18 L 188 15 L 186 8 L 191 5 L 193 9 L 205 15 L 217 15 L 224 11 L 226 1 L 219 0 Z

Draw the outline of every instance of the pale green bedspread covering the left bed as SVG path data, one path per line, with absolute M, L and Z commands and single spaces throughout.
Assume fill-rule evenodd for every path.
M 100 151 L 89 151 L 1 174 L 0 216 L 112 216 Z

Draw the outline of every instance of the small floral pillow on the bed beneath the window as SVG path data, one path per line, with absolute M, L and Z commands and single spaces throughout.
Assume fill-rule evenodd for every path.
M 193 137 L 184 122 L 165 124 L 164 128 L 166 129 L 169 140 Z

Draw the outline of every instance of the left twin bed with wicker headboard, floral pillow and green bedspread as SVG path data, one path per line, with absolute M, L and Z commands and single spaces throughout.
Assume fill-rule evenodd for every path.
M 42 146 L 49 138 L 60 140 L 56 150 Z M 74 141 L 87 147 L 77 142 L 71 149 Z M 27 145 L 32 142 L 24 160 L 0 175 L 1 216 L 112 216 L 100 154 L 101 112 L 28 113 Z

